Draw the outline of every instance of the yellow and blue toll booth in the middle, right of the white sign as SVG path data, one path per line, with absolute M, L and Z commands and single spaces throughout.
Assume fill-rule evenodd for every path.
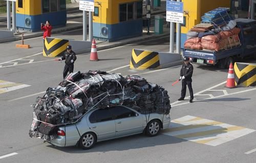
M 142 0 L 95 1 L 93 37 L 111 42 L 141 36 L 142 21 Z

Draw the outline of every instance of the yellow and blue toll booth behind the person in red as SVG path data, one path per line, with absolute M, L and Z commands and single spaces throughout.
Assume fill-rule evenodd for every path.
M 65 26 L 66 0 L 17 0 L 16 26 L 26 31 L 40 30 L 41 23 L 50 21 L 52 26 Z

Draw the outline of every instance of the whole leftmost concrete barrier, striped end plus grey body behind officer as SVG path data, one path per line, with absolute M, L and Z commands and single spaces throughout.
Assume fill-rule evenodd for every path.
M 76 41 L 69 39 L 47 37 L 44 42 L 42 55 L 44 57 L 60 57 L 66 51 L 67 46 L 72 45 L 72 50 L 76 54 L 89 52 L 91 49 L 90 41 Z

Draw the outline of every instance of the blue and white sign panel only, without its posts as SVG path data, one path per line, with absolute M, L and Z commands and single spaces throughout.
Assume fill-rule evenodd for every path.
M 166 21 L 183 23 L 183 3 L 166 1 Z

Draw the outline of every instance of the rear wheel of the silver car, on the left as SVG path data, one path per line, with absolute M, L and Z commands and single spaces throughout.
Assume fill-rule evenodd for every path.
M 93 132 L 84 133 L 79 140 L 79 147 L 82 149 L 90 149 L 96 143 L 96 135 Z

